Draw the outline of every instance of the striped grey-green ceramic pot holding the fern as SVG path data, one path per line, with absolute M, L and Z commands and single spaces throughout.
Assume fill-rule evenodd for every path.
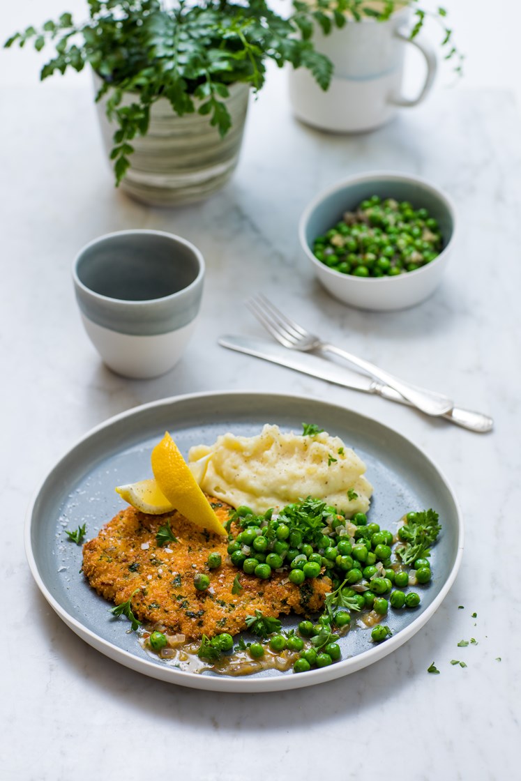
M 95 86 L 99 88 L 98 77 Z M 209 116 L 198 112 L 177 116 L 166 99 L 152 105 L 146 136 L 131 142 L 130 168 L 120 184 L 137 201 L 155 206 L 176 206 L 202 201 L 223 187 L 237 166 L 244 123 L 248 112 L 249 87 L 232 84 L 223 101 L 231 116 L 231 127 L 222 138 Z M 130 105 L 131 95 L 123 104 Z M 195 102 L 197 105 L 197 102 Z M 97 104 L 103 144 L 107 156 L 113 146 L 116 123 L 109 122 L 105 102 Z

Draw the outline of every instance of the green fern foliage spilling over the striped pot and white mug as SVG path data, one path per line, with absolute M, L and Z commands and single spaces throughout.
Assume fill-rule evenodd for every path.
M 415 6 L 416 26 L 426 12 L 417 0 L 382 0 L 379 10 L 366 0 L 293 0 L 287 18 L 266 0 L 178 0 L 174 8 L 161 0 L 87 0 L 87 21 L 76 23 L 70 13 L 48 20 L 40 29 L 27 27 L 5 42 L 23 47 L 32 41 L 41 51 L 53 45 L 41 79 L 87 64 L 102 79 L 96 101 L 106 96 L 106 112 L 116 123 L 111 158 L 116 185 L 130 166 L 132 140 L 148 130 L 150 109 L 166 98 L 179 116 L 198 111 L 209 117 L 222 136 L 230 129 L 225 98 L 230 84 L 242 82 L 259 91 L 266 78 L 266 60 L 308 68 L 324 90 L 333 66 L 312 44 L 314 25 L 324 33 L 343 27 L 351 16 L 385 20 L 405 4 Z M 444 16 L 439 9 L 437 16 Z M 444 45 L 451 31 L 444 27 Z M 123 95 L 130 94 L 130 105 Z

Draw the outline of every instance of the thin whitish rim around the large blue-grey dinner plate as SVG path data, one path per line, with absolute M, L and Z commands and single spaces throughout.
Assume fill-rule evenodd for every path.
M 109 640 L 105 640 L 105 638 L 99 637 L 98 634 L 93 632 L 91 629 L 88 629 L 87 626 L 84 626 L 84 624 L 78 621 L 78 619 L 76 619 L 73 615 L 70 615 L 66 608 L 64 608 L 62 604 L 60 604 L 59 601 L 53 597 L 40 575 L 37 565 L 37 558 L 34 555 L 31 543 L 31 530 L 33 528 L 33 523 L 36 522 L 34 519 L 34 510 L 36 508 L 38 499 L 41 497 L 41 494 L 45 489 L 46 483 L 52 477 L 52 475 L 57 470 L 59 470 L 60 466 L 66 462 L 66 459 L 73 453 L 73 451 L 76 451 L 77 448 L 80 448 L 82 444 L 87 442 L 87 440 L 90 440 L 100 431 L 108 429 L 126 418 L 134 417 L 135 415 L 139 415 L 141 412 L 153 409 L 155 407 L 177 405 L 182 401 L 188 400 L 206 400 L 209 398 L 223 396 L 256 396 L 270 400 L 276 400 L 277 398 L 280 398 L 284 399 L 285 401 L 298 400 L 311 404 L 337 408 L 339 411 L 349 412 L 351 415 L 355 415 L 362 421 L 366 420 L 372 424 L 376 424 L 376 426 L 380 426 L 382 429 L 387 430 L 392 435 L 394 435 L 394 437 L 399 437 L 409 447 L 412 446 L 412 448 L 415 448 L 416 451 L 419 451 L 423 455 L 423 458 L 425 458 L 426 461 L 430 463 L 431 467 L 434 468 L 434 471 L 437 473 L 441 481 L 444 483 L 444 486 L 447 488 L 448 493 L 450 494 L 451 499 L 455 505 L 457 519 L 457 549 L 455 551 L 455 562 L 452 565 L 448 578 L 445 580 L 441 590 L 437 596 L 434 597 L 434 600 L 423 611 L 423 613 L 417 616 L 416 619 L 414 619 L 409 624 L 409 626 L 401 629 L 397 634 L 390 637 L 384 643 L 381 643 L 375 647 L 370 647 L 362 654 L 357 654 L 354 657 L 343 659 L 341 662 L 337 662 L 330 667 L 309 670 L 309 672 L 306 672 L 305 675 L 281 675 L 268 678 L 251 678 L 248 676 L 241 678 L 232 678 L 230 676 L 202 676 L 199 673 L 181 671 L 166 665 L 163 667 L 162 665 L 158 665 L 155 662 L 137 657 L 123 648 L 117 647 L 116 645 L 109 642 Z M 306 396 L 305 394 L 273 394 L 269 391 L 250 390 L 197 391 L 188 394 L 169 396 L 157 399 L 155 401 L 148 401 L 145 404 L 131 407 L 130 409 L 124 410 L 123 412 L 118 412 L 116 415 L 112 415 L 110 418 L 102 421 L 102 423 L 98 423 L 96 426 L 93 426 L 90 430 L 87 430 L 86 433 L 73 442 L 73 444 L 67 448 L 66 452 L 64 452 L 62 456 L 54 463 L 54 465 L 52 465 L 51 469 L 48 470 L 43 480 L 41 480 L 41 482 L 37 485 L 36 490 L 34 490 L 34 494 L 31 497 L 27 507 L 24 525 L 24 547 L 31 575 L 33 576 L 41 594 L 43 597 L 45 597 L 45 600 L 48 601 L 48 604 L 50 604 L 55 613 L 59 615 L 59 618 L 62 619 L 62 621 L 66 623 L 66 626 L 69 626 L 69 628 L 72 629 L 78 637 L 84 640 L 87 644 L 91 645 L 91 647 L 94 647 L 97 651 L 100 651 L 105 656 L 111 658 L 112 661 L 118 662 L 127 668 L 133 669 L 135 672 L 141 672 L 142 674 L 165 681 L 166 683 L 174 683 L 179 686 L 187 686 L 188 688 L 206 691 L 250 694 L 255 692 L 264 693 L 269 691 L 298 689 L 307 686 L 314 686 L 317 683 L 326 683 L 327 681 L 347 676 L 352 672 L 357 672 L 359 669 L 363 669 L 364 667 L 367 667 L 374 662 L 378 662 L 380 659 L 386 657 L 388 654 L 391 654 L 394 650 L 401 647 L 401 645 L 405 644 L 419 631 L 419 629 L 422 629 L 426 622 L 434 615 L 434 613 L 440 607 L 441 603 L 444 601 L 444 598 L 447 596 L 449 590 L 452 587 L 452 584 L 455 582 L 456 576 L 459 572 L 459 567 L 462 562 L 462 554 L 464 549 L 464 527 L 462 511 L 459 505 L 458 497 L 455 494 L 455 491 L 453 490 L 451 483 L 449 482 L 447 476 L 445 476 L 443 470 L 423 448 L 420 448 L 419 445 L 416 444 L 416 442 L 414 442 L 410 437 L 406 437 L 403 433 L 394 429 L 392 426 L 387 426 L 387 423 L 381 423 L 380 420 L 377 420 L 369 415 L 365 415 L 362 412 L 357 412 L 348 406 L 340 405 L 336 402 L 331 402 L 320 398 L 309 398 L 309 396 Z

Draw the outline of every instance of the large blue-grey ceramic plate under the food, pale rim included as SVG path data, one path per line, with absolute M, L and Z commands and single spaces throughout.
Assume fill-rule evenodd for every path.
M 66 529 L 87 524 L 87 539 L 122 507 L 116 485 L 152 476 L 150 453 L 166 430 L 186 456 L 194 444 L 212 444 L 220 433 L 259 433 L 264 423 L 302 432 L 316 423 L 341 437 L 367 465 L 374 494 L 369 519 L 394 530 L 409 510 L 434 508 L 442 532 L 432 554 L 433 580 L 421 590 L 416 609 L 392 611 L 393 634 L 375 645 L 366 629 L 341 639 L 342 660 L 294 674 L 266 670 L 230 677 L 185 672 L 151 658 L 129 633 L 126 619 L 114 619 L 109 603 L 80 574 L 81 547 Z M 30 505 L 26 550 L 42 594 L 74 632 L 116 662 L 169 683 L 213 691 L 260 692 L 311 686 L 366 667 L 412 637 L 434 614 L 455 580 L 462 556 L 462 519 L 447 480 L 423 451 L 401 434 L 351 410 L 309 398 L 244 392 L 191 394 L 124 412 L 81 439 L 55 465 Z

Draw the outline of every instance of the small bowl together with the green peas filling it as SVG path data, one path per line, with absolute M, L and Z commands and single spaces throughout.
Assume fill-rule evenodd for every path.
M 317 278 L 344 304 L 392 311 L 434 293 L 455 235 L 439 188 L 402 173 L 350 177 L 319 194 L 298 228 Z

